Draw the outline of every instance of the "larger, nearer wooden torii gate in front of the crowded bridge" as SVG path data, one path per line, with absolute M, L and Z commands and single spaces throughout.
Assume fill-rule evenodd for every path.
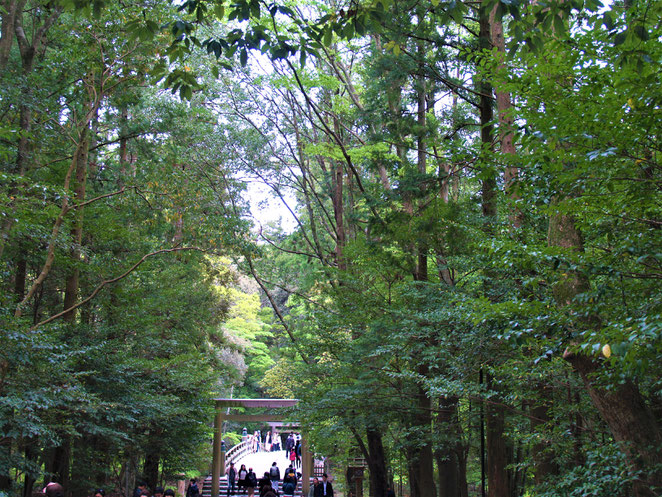
M 283 408 L 292 407 L 299 402 L 297 399 L 215 399 L 216 417 L 214 418 L 214 447 L 212 456 L 211 497 L 218 497 L 219 480 L 225 472 L 225 459 L 221 456 L 221 440 L 223 439 L 223 422 L 285 422 L 285 417 L 279 414 L 224 414 L 224 408 L 255 407 Z M 301 480 L 303 495 L 308 495 L 310 476 L 312 474 L 313 458 L 308 448 L 306 437 L 301 437 Z

